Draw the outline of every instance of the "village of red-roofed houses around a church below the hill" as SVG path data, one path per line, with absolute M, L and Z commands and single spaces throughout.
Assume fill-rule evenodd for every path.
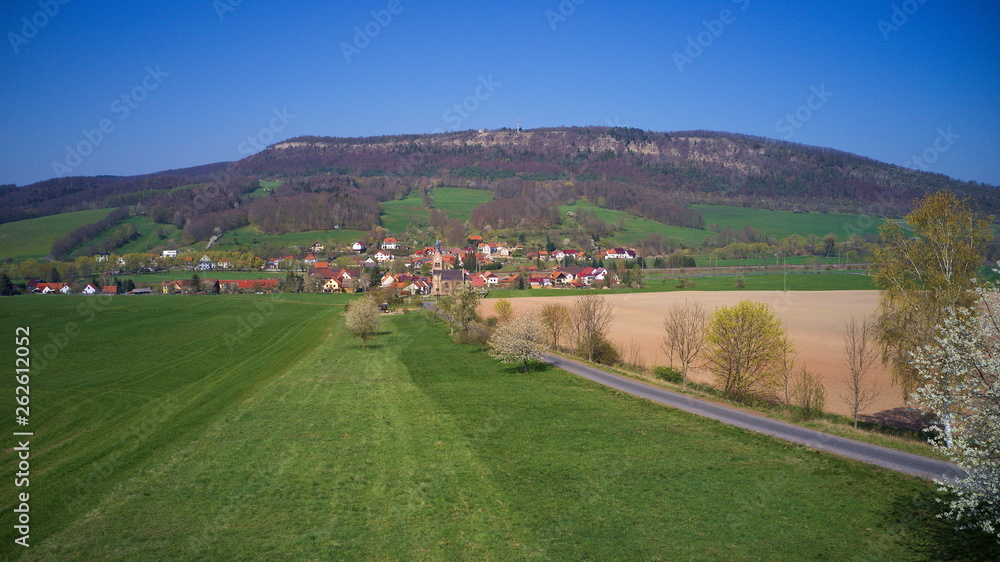
M 574 249 L 525 251 L 521 245 L 485 242 L 470 236 L 464 248 L 434 246 L 407 248 L 393 237 L 385 237 L 370 248 L 361 241 L 328 251 L 314 242 L 299 255 L 234 259 L 229 252 L 95 256 L 96 268 L 116 264 L 98 282 L 96 276 L 83 285 L 63 281 L 29 281 L 25 290 L 35 294 L 144 295 L 144 294 L 253 294 L 274 292 L 358 293 L 381 289 L 390 296 L 439 296 L 469 284 L 477 289 L 610 288 L 621 283 L 617 271 L 634 267 L 639 258 L 629 248 L 608 248 L 595 256 Z M 372 251 L 374 250 L 374 251 Z M 610 261 L 608 267 L 603 264 Z M 137 263 L 138 262 L 138 263 Z M 348 263 L 345 263 L 348 262 Z M 592 265 L 579 265 L 579 264 Z M 185 271 L 191 276 L 158 283 L 143 283 L 144 274 Z M 213 272 L 271 272 L 264 279 L 218 279 Z M 136 275 L 139 285 L 119 276 Z M 289 282 L 289 280 L 294 280 Z

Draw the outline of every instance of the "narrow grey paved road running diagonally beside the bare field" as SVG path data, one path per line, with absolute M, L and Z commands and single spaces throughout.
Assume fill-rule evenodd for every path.
M 425 302 L 423 306 L 429 310 L 434 310 L 435 303 Z M 574 375 L 633 396 L 904 474 L 928 480 L 942 478 L 954 480 L 965 475 L 965 472 L 961 468 L 950 462 L 905 453 L 887 447 L 879 447 L 878 445 L 870 445 L 813 429 L 806 429 L 759 414 L 701 400 L 628 377 L 615 375 L 564 357 L 546 354 L 544 361 Z

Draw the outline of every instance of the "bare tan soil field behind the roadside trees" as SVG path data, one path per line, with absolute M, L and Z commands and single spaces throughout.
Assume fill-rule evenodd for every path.
M 510 303 L 520 312 L 541 308 L 548 302 L 572 305 L 574 298 L 523 297 L 510 299 Z M 821 377 L 827 391 L 826 410 L 845 415 L 849 411 L 842 398 L 846 393 L 846 353 L 841 330 L 852 315 L 859 319 L 870 316 L 878 306 L 877 291 L 684 291 L 605 295 L 605 298 L 615 307 L 609 334 L 611 341 L 619 349 L 633 343 L 638 345 L 646 366 L 669 364 L 661 341 L 663 316 L 670 304 L 691 299 L 711 310 L 741 300 L 767 303 L 785 322 L 788 335 L 795 343 L 796 365 L 805 366 Z M 496 299 L 484 300 L 480 313 L 484 317 L 495 316 L 495 302 Z M 881 393 L 863 414 L 889 416 L 890 411 L 905 405 L 902 391 L 892 383 L 881 362 L 870 377 Z M 700 367 L 692 367 L 691 378 L 697 382 L 712 382 L 711 374 Z

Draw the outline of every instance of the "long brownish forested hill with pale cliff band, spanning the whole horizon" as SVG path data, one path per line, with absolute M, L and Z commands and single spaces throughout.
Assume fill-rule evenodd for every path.
M 261 180 L 280 186 L 261 193 Z M 0 188 L 0 222 L 138 205 L 189 240 L 255 224 L 265 232 L 378 223 L 380 204 L 434 186 L 489 190 L 473 226 L 545 228 L 581 197 L 677 226 L 701 228 L 692 203 L 901 216 L 947 188 L 986 212 L 992 186 L 844 152 L 706 131 L 620 127 L 461 131 L 369 138 L 299 137 L 233 163 L 133 177 L 61 178 Z M 524 213 L 526 205 L 539 212 Z M 430 205 L 428 205 L 430 206 Z

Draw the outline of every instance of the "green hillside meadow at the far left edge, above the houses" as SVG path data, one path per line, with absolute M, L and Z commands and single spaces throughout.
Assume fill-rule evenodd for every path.
M 104 218 L 111 209 L 63 213 L 0 224 L 0 259 L 41 258 L 70 231 Z

